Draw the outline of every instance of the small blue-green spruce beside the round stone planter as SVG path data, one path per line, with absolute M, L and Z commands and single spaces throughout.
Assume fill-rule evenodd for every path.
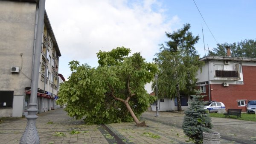
M 182 124 L 183 132 L 196 144 L 203 142 L 203 132 L 208 132 L 212 128 L 211 118 L 204 109 L 203 97 L 200 95 L 200 90 L 195 90 L 197 93 L 193 95 L 190 107 L 185 110 L 184 121 Z

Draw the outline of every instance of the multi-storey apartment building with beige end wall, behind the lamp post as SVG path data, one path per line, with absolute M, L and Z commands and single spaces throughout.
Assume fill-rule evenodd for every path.
M 29 104 L 38 0 L 0 1 L 0 117 L 26 115 Z M 58 91 L 58 48 L 47 13 L 38 81 L 38 112 L 55 108 Z

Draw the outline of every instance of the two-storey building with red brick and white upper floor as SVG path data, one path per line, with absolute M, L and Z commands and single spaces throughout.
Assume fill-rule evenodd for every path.
M 256 99 L 256 58 L 205 56 L 198 70 L 198 88 L 206 101 L 223 102 L 229 108 L 246 111 L 248 100 Z

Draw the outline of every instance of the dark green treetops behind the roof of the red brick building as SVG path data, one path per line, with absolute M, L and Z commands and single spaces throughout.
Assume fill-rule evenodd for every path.
M 252 57 L 256 58 L 256 40 L 241 40 L 232 44 L 217 44 L 217 48 L 209 51 L 209 56 L 226 56 L 226 47 L 230 46 L 231 56 L 233 57 Z

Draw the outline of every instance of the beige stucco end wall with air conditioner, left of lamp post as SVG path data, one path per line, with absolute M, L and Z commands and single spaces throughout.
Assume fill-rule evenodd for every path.
M 14 91 L 13 108 L 0 109 L 0 116 L 22 115 L 24 89 L 31 85 L 35 17 L 36 3 L 0 0 L 0 90 Z

